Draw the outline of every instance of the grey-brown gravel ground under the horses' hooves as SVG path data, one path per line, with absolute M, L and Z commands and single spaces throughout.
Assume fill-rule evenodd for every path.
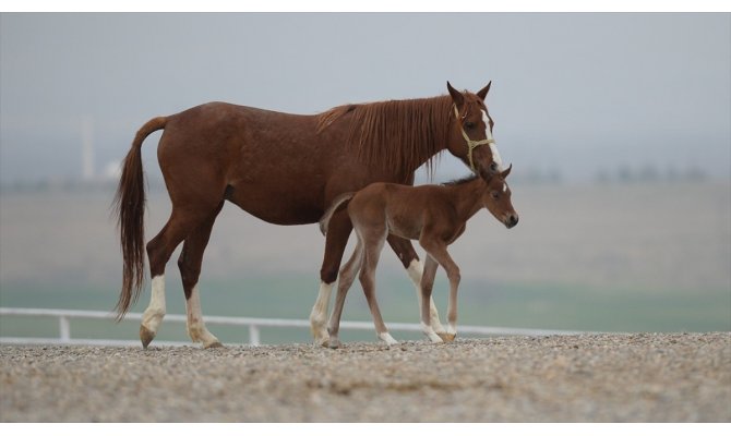
M 0 347 L 3 422 L 729 422 L 731 334 Z

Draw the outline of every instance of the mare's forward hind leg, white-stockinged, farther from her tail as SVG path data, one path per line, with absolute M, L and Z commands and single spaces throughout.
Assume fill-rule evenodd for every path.
M 201 296 L 197 280 L 201 276 L 201 264 L 203 252 L 208 244 L 213 223 L 220 209 L 224 207 L 221 201 L 211 216 L 201 223 L 191 234 L 185 238 L 183 249 L 178 258 L 178 268 L 182 278 L 183 291 L 185 293 L 185 312 L 188 313 L 188 336 L 193 342 L 201 342 L 203 348 L 223 347 L 218 338 L 212 335 L 203 323 L 201 311 Z

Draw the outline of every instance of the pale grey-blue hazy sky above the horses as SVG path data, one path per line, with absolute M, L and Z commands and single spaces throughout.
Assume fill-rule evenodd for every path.
M 0 181 L 98 172 L 149 118 L 209 100 L 316 113 L 488 97 L 516 171 L 731 169 L 731 14 L 2 14 Z M 155 174 L 158 134 L 143 147 Z M 442 159 L 438 172 L 466 172 Z

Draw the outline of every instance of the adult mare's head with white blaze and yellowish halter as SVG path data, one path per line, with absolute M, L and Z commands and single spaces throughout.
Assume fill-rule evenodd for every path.
M 494 122 L 484 105 L 491 84 L 492 82 L 488 83 L 477 94 L 472 94 L 467 90 L 460 93 L 450 82 L 446 83 L 453 102 L 447 148 L 486 181 L 503 170 L 495 140 L 492 137 Z

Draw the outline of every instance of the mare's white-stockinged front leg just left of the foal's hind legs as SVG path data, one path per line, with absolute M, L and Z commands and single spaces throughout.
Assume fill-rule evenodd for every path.
M 337 280 L 337 270 L 343 261 L 343 252 L 348 244 L 348 237 L 352 231 L 352 225 L 346 210 L 335 213 L 329 219 L 327 234 L 325 235 L 325 256 L 320 269 L 320 292 L 310 313 L 310 330 L 314 343 L 326 347 L 329 340 L 327 334 L 327 307 L 333 284 Z

